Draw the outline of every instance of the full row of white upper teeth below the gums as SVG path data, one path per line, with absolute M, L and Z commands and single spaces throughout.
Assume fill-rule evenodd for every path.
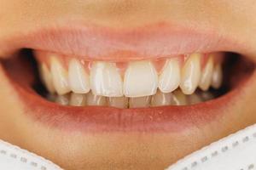
M 41 77 L 50 93 L 93 94 L 107 97 L 142 97 L 156 94 L 157 88 L 163 93 L 171 93 L 178 87 L 183 94 L 193 94 L 197 87 L 207 90 L 211 85 L 219 88 L 222 82 L 220 62 L 214 62 L 210 54 L 202 68 L 202 54 L 191 54 L 184 63 L 180 58 L 166 59 L 166 64 L 158 73 L 153 62 L 148 60 L 129 63 L 124 77 L 113 62 L 95 61 L 89 71 L 83 62 L 71 59 L 68 69 L 58 57 L 51 56 L 49 67 L 41 64 Z

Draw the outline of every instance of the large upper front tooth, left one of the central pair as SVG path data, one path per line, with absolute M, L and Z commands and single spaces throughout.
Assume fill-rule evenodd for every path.
M 114 63 L 96 62 L 90 70 L 90 88 L 96 95 L 123 96 L 123 82 Z

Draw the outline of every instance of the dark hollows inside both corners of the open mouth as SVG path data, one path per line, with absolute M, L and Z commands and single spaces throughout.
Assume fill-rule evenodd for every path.
M 218 90 L 214 88 L 208 90 L 214 95 L 214 99 L 229 93 L 254 71 L 253 62 L 240 54 L 226 52 L 224 58 L 222 87 Z M 21 85 L 30 87 L 36 94 L 47 99 L 49 93 L 39 78 L 38 63 L 33 56 L 32 49 L 21 49 L 13 58 L 2 60 L 2 63 L 9 77 Z M 203 92 L 198 89 L 196 93 Z

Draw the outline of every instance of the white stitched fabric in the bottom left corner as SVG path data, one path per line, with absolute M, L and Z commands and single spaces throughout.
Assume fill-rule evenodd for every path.
M 1 170 L 61 170 L 51 161 L 0 140 Z

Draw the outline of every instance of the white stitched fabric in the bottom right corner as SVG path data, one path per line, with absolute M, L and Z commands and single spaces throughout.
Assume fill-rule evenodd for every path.
M 255 170 L 256 125 L 186 156 L 167 170 Z

